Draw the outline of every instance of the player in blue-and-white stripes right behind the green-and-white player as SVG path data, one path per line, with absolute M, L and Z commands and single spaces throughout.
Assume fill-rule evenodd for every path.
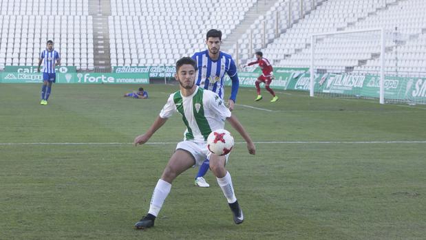
M 220 98 L 225 95 L 225 73 L 232 80 L 231 96 L 228 100 L 229 110 L 234 109 L 235 100 L 237 98 L 239 80 L 237 75 L 237 67 L 231 55 L 220 51 L 222 44 L 222 32 L 220 30 L 211 29 L 206 34 L 207 50 L 196 52 L 192 58 L 197 62 L 198 71 L 195 75 L 195 84 L 215 92 Z M 200 166 L 195 176 L 195 186 L 209 187 L 210 185 L 204 179 L 209 171 L 209 160 L 206 159 Z

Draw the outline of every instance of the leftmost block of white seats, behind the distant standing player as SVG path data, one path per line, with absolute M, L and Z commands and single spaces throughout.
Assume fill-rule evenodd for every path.
M 37 65 L 47 39 L 54 41 L 63 65 L 93 69 L 92 16 L 88 15 L 87 1 L 1 1 L 0 69 L 5 65 Z

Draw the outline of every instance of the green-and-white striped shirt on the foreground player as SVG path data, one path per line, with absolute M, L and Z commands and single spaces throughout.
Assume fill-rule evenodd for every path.
M 231 117 L 231 111 L 220 96 L 198 86 L 191 96 L 184 97 L 180 91 L 170 94 L 160 118 L 170 118 L 175 112 L 182 115 L 187 126 L 184 140 L 195 142 L 205 142 L 211 131 L 223 129 L 226 118 Z

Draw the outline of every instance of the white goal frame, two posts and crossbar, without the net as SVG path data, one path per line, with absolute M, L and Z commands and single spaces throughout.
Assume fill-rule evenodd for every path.
M 330 36 L 337 34 L 351 34 L 358 32 L 380 32 L 381 33 L 381 50 L 380 50 L 380 104 L 385 104 L 385 30 L 383 28 L 368 28 L 363 30 L 350 30 L 338 32 L 325 32 L 312 34 L 310 36 L 310 91 L 309 96 L 314 96 L 314 78 L 315 78 L 315 40 L 319 36 Z

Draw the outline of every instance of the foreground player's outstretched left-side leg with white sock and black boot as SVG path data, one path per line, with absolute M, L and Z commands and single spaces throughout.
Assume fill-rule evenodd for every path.
M 179 146 L 179 144 L 178 144 Z M 162 208 L 162 204 L 170 193 L 171 182 L 188 168 L 195 164 L 195 158 L 192 153 L 184 149 L 177 149 L 171 156 L 169 163 L 158 179 L 156 188 L 153 190 L 151 204 L 149 205 L 148 214 L 135 224 L 137 229 L 151 228 L 158 216 L 158 212 Z

